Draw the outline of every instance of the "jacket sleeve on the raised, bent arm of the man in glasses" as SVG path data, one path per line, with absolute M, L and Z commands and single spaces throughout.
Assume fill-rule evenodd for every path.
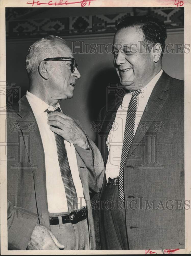
M 76 120 L 76 122 L 83 130 L 80 122 L 78 120 Z M 94 142 L 87 136 L 87 134 L 86 137 L 90 145 L 90 150 L 86 150 L 77 145 L 74 145 L 74 147 L 82 158 L 86 168 L 88 169 L 89 189 L 98 193 L 101 190 L 101 186 L 103 184 L 104 163 L 101 157 L 101 153 L 99 152 Z

